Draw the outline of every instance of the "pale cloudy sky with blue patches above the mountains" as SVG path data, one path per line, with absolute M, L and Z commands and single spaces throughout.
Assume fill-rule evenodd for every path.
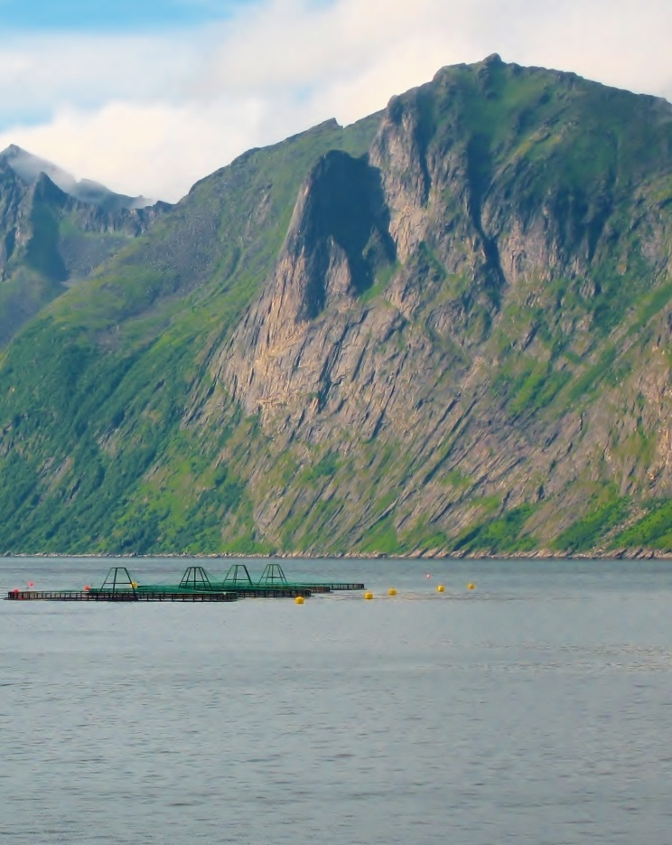
M 0 150 L 175 202 L 492 52 L 672 101 L 671 33 L 670 0 L 0 0 Z

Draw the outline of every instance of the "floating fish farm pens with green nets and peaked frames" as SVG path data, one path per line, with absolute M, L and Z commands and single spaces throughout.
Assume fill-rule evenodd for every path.
M 176 584 L 140 584 L 126 567 L 112 567 L 100 587 L 81 590 L 26 590 L 14 588 L 5 596 L 10 601 L 56 602 L 234 602 L 239 598 L 294 598 L 303 602 L 313 593 L 363 590 L 363 584 L 288 581 L 279 563 L 266 564 L 257 580 L 247 566 L 233 564 L 227 574 L 213 578 L 199 566 L 188 567 Z

